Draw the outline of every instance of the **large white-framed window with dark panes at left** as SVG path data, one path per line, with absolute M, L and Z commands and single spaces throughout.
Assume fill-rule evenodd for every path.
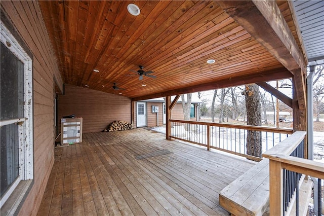
M 32 61 L 1 23 L 1 207 L 33 178 Z

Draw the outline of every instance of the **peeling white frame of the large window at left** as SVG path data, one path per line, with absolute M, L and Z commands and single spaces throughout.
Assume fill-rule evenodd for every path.
M 33 179 L 33 100 L 32 60 L 1 22 L 1 42 L 24 64 L 24 118 L 0 121 L 0 125 L 17 123 L 19 133 L 19 176 L 1 198 L 1 207 L 20 181 Z

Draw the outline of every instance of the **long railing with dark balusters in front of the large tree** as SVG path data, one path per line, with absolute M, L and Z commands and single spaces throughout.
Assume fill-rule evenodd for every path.
M 170 120 L 172 138 L 205 146 L 207 150 L 216 149 L 260 161 L 262 153 L 266 152 L 281 140 L 293 133 L 292 129 L 234 125 L 212 122 L 196 122 L 185 120 Z M 247 154 L 248 132 L 255 134 L 261 144 L 259 156 Z

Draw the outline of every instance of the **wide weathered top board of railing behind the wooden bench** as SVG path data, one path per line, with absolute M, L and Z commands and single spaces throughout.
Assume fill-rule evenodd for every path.
M 306 131 L 296 131 L 291 136 L 279 142 L 278 145 L 263 153 L 263 157 L 273 159 L 279 155 L 289 156 L 305 138 L 305 135 Z

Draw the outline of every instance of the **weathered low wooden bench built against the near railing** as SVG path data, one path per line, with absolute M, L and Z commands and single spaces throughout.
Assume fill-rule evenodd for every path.
M 219 203 L 232 215 L 263 215 L 269 206 L 269 159 L 263 159 L 225 187 Z

